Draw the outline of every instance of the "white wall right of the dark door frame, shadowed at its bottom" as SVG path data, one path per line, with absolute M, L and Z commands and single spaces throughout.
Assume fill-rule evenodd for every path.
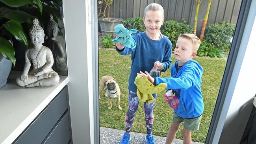
M 219 144 L 239 144 L 252 110 L 256 94 L 256 0 L 252 0 L 241 45 L 228 87 L 226 100 L 231 99 Z

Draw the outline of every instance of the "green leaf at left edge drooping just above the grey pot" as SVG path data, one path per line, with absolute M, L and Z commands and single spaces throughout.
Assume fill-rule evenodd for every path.
M 2 54 L 6 59 L 9 59 L 13 63 L 13 66 L 15 66 L 15 50 L 11 43 L 3 37 L 0 37 L 0 54 Z

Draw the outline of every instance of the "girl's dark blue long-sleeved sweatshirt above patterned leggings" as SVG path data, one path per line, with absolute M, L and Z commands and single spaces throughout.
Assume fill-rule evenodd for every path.
M 136 92 L 137 87 L 134 84 L 135 77 L 139 71 L 148 73 L 153 68 L 156 61 L 160 61 L 164 64 L 164 69 L 161 72 L 166 71 L 171 65 L 171 53 L 172 53 L 172 44 L 171 41 L 161 35 L 158 41 L 150 39 L 146 32 L 133 34 L 132 37 L 136 42 L 135 48 L 124 47 L 121 51 L 117 52 L 121 55 L 131 54 L 131 71 L 129 78 L 128 89 L 132 92 Z

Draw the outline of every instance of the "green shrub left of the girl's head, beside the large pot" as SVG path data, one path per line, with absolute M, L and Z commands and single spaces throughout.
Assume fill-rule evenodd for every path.
M 128 30 L 136 29 L 137 33 L 146 31 L 145 25 L 143 24 L 143 18 L 135 17 L 135 18 L 127 18 L 122 21 L 122 24 Z

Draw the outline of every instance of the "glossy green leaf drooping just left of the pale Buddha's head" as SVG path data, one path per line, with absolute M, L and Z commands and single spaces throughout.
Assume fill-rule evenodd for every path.
M 28 39 L 22 26 L 18 22 L 10 20 L 4 24 L 4 28 L 6 28 L 6 30 L 8 30 L 15 37 L 15 39 L 24 43 L 28 48 Z

